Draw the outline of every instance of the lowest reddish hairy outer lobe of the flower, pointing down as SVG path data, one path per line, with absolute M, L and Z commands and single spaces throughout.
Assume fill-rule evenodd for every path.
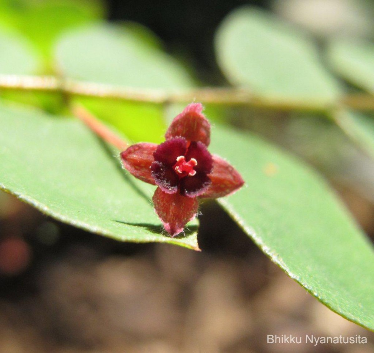
M 195 218 L 199 208 L 196 198 L 184 197 L 179 193 L 166 194 L 159 187 L 152 200 L 154 211 L 171 237 L 183 231 L 186 223 Z

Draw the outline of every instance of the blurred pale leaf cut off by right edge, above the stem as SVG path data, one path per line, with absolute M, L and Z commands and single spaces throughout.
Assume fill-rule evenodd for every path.
M 332 68 L 354 85 L 374 93 L 374 44 L 335 40 L 327 57 Z

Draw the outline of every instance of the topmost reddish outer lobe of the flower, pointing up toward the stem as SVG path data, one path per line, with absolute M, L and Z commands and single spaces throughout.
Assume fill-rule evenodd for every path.
M 183 112 L 171 122 L 165 138 L 183 136 L 187 141 L 201 141 L 206 146 L 210 142 L 210 123 L 202 114 L 201 103 L 187 105 Z

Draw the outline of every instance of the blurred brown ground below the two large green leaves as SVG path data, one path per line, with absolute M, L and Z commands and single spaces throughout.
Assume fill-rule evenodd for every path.
M 341 193 L 373 233 L 373 206 Z M 201 253 L 122 244 L 5 204 L 1 239 L 30 254 L 26 270 L 0 277 L 1 353 L 374 352 L 372 332 L 319 303 L 214 203 L 203 206 Z M 268 334 L 368 343 L 267 344 Z

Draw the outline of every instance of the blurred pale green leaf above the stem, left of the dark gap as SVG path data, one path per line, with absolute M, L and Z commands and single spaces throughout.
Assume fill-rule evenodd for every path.
M 70 32 L 57 43 L 55 57 L 58 70 L 69 78 L 144 89 L 192 85 L 178 62 L 123 26 L 99 25 Z

